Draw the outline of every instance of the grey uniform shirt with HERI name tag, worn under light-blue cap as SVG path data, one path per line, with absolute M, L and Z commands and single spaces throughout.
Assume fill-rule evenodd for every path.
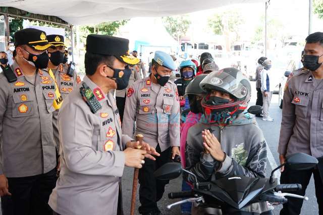
M 127 92 L 122 132 L 143 134 L 150 146 L 159 144 L 161 152 L 180 146 L 180 104 L 176 85 L 168 81 L 161 87 L 150 77 L 135 82 Z

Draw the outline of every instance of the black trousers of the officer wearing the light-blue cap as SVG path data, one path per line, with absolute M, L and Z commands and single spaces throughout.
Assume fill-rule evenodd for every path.
M 161 153 L 157 145 L 156 151 L 160 154 L 159 157 L 155 157 L 156 161 L 145 158 L 145 164 L 139 169 L 139 200 L 141 203 L 139 213 L 158 211 L 157 201 L 163 197 L 165 185 L 169 183 L 169 181 L 157 180 L 153 173 L 164 164 L 172 162 L 172 147 Z

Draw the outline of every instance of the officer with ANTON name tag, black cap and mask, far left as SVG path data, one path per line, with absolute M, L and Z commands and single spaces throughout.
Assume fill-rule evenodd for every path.
M 46 50 L 52 45 L 45 32 L 31 28 L 15 33 L 15 45 L 11 69 L 0 74 L 3 214 L 52 214 L 47 204 L 56 183 L 52 112 L 54 102 L 62 99 L 55 92 L 55 79 L 41 70 L 47 67 Z

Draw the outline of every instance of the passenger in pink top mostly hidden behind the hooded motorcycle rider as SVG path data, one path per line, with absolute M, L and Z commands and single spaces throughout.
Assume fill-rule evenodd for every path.
M 199 122 L 201 116 L 203 114 L 201 101 L 203 97 L 206 95 L 206 92 L 203 91 L 199 84 L 206 77 L 206 75 L 202 74 L 195 77 L 186 87 L 185 95 L 188 97 L 190 111 L 185 117 L 185 122 L 181 125 L 181 149 L 186 148 L 186 137 L 188 133 L 188 129 Z M 186 167 L 185 160 L 185 150 L 181 150 L 181 163 L 183 168 Z M 191 190 L 190 185 L 183 180 L 182 181 L 182 191 Z M 187 202 L 181 204 L 181 212 L 183 215 L 191 214 L 192 203 Z

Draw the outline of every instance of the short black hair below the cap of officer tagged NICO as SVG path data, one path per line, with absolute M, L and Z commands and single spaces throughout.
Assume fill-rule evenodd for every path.
M 86 52 L 84 57 L 84 65 L 85 65 L 85 74 L 92 76 L 97 66 L 100 63 L 104 63 L 107 66 L 113 66 L 113 61 L 116 59 L 113 55 L 102 55 L 102 54 L 94 54 L 91 52 Z

